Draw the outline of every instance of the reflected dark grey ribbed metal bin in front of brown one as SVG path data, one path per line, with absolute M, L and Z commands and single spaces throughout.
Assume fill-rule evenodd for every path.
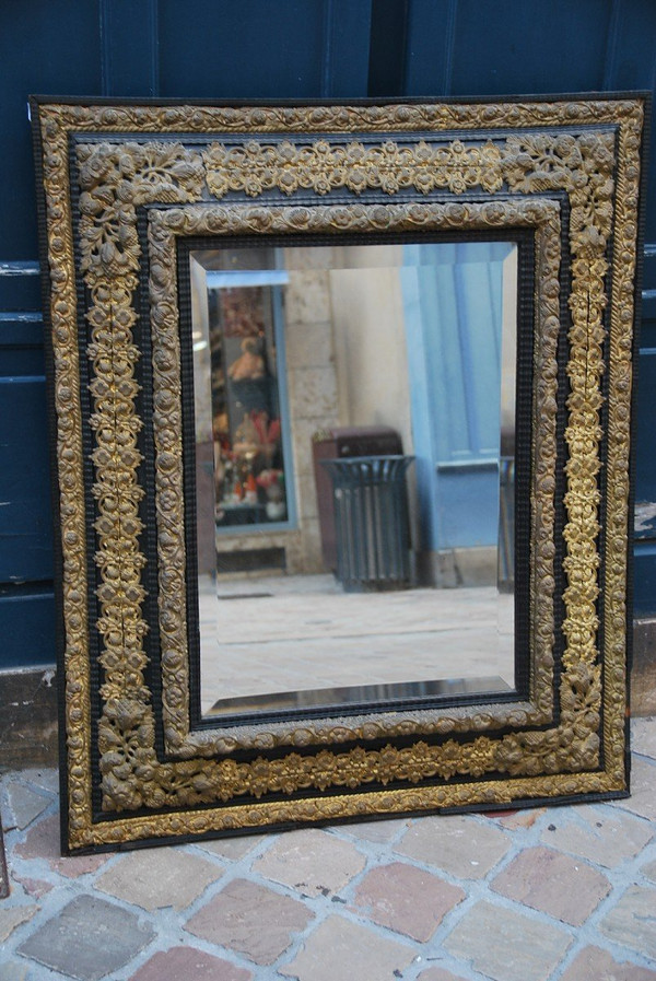
M 349 593 L 410 586 L 406 474 L 413 456 L 325 459 L 332 478 L 336 577 Z

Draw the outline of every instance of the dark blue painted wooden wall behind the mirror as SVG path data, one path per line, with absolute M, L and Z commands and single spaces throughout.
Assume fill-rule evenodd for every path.
M 55 659 L 28 94 L 327 98 L 653 91 L 655 84 L 654 0 L 0 4 L 0 667 Z M 639 502 L 656 501 L 653 150 L 651 161 Z M 656 518 L 643 525 L 636 612 L 656 615 Z

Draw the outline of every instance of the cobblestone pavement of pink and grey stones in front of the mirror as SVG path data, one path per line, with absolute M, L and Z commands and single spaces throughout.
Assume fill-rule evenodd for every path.
M 612 804 L 61 859 L 5 772 L 0 981 L 656 981 L 656 720 Z

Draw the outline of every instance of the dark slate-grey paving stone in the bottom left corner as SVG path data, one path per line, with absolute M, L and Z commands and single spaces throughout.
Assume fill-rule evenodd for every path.
M 155 937 L 114 903 L 78 896 L 21 944 L 19 954 L 77 981 L 98 981 L 130 961 Z

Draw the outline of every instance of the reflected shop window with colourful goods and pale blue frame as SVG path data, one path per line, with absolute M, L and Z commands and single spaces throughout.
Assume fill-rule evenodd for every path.
M 197 443 L 211 448 L 216 527 L 285 522 L 289 432 L 283 440 L 285 373 L 283 364 L 279 376 L 278 351 L 284 343 L 281 287 L 289 277 L 215 271 L 207 281 L 208 330 L 194 338 Z

